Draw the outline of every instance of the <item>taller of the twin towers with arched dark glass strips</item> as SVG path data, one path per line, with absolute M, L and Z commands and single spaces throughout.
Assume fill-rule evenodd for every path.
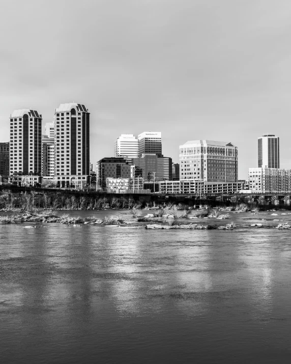
M 90 176 L 90 113 L 85 105 L 71 102 L 55 109 L 54 175 L 63 185 Z

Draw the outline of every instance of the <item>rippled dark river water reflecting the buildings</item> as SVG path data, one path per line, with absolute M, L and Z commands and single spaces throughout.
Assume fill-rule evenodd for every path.
M 0 225 L 0 362 L 290 362 L 291 231 L 243 227 L 278 214 L 232 214 L 233 231 Z

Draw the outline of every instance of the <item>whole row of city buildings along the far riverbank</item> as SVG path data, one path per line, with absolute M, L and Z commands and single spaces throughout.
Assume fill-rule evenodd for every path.
M 9 120 L 10 143 L 2 143 L 0 159 L 3 170 L 4 164 L 7 164 L 5 158 L 9 151 L 10 181 L 13 181 L 13 176 L 20 175 L 20 173 L 26 176 L 28 174 L 54 176 L 53 179 L 59 180 L 57 182 L 59 184 L 62 182 L 63 187 L 71 186 L 77 179 L 78 183 L 82 180 L 84 180 L 83 182 L 89 181 L 91 170 L 90 113 L 84 104 L 73 102 L 61 104 L 59 108 L 55 108 L 53 123 L 44 124 L 46 134 L 42 134 L 42 114 L 37 110 L 14 110 Z M 257 138 L 258 168 L 249 167 L 247 185 L 250 190 L 257 192 L 290 191 L 291 170 L 280 169 L 279 139 L 274 134 L 264 134 Z M 119 143 L 121 141 L 123 142 Z M 215 185 L 215 182 L 235 184 L 241 182 L 238 178 L 238 147 L 231 142 L 198 139 L 187 141 L 179 148 L 181 187 L 183 180 L 190 182 L 185 185 L 186 189 L 190 188 L 190 190 L 197 188 L 196 183 L 199 181 L 214 182 L 216 187 L 218 185 Z M 174 163 L 172 163 L 171 157 L 162 155 L 161 132 L 144 131 L 137 137 L 133 134 L 121 134 L 117 138 L 114 150 L 114 154 L 118 153 L 124 155 L 120 155 L 121 158 L 105 157 L 103 161 L 99 160 L 97 163 L 96 171 L 97 175 L 102 175 L 102 186 L 104 183 L 107 184 L 105 174 L 102 174 L 105 172 L 105 167 L 109 177 L 113 179 L 119 177 L 134 179 L 136 176 L 141 176 L 142 171 L 144 181 L 153 173 L 154 180 L 155 174 L 157 174 L 158 180 L 171 181 Z M 128 155 L 132 153 L 133 155 L 138 154 L 139 157 Z M 106 159 L 108 160 L 105 162 Z M 118 159 L 124 163 L 122 171 Z M 106 166 L 102 163 L 105 163 Z M 98 173 L 98 164 L 100 171 L 101 165 L 103 165 L 101 174 L 100 171 Z M 54 171 L 51 170 L 52 167 Z M 138 171 L 134 171 L 135 169 Z M 18 180 L 18 182 L 20 181 Z M 21 183 L 24 182 L 21 181 Z M 34 178 L 34 183 L 38 183 L 37 178 Z M 113 185 L 116 183 L 114 182 Z M 170 188 L 174 186 L 177 190 L 175 183 Z M 101 186 L 98 186 L 97 183 L 98 187 Z M 182 189 L 185 190 L 184 187 Z M 220 188 L 223 188 L 222 185 Z

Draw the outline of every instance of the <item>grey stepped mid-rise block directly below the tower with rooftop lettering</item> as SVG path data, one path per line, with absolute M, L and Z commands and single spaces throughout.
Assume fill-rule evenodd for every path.
M 142 154 L 140 158 L 132 158 L 135 169 L 142 171 L 144 181 L 162 181 L 172 178 L 172 158 L 157 154 Z

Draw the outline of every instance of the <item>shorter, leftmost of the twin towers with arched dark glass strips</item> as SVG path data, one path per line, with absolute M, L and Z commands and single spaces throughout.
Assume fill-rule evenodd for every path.
M 42 172 L 42 116 L 36 110 L 14 110 L 10 116 L 10 175 Z

